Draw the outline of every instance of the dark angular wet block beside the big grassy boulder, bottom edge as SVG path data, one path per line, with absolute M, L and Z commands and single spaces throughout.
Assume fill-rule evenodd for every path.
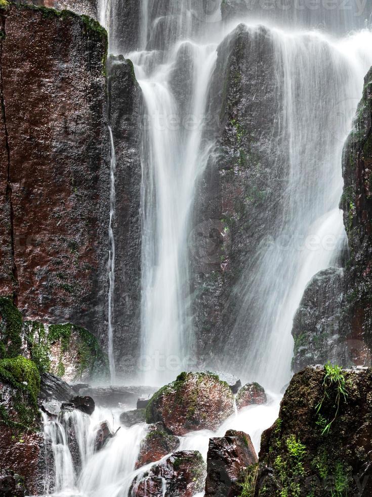
M 257 464 L 251 437 L 229 430 L 224 437 L 211 438 L 206 459 L 205 496 L 237 497 L 244 471 Z

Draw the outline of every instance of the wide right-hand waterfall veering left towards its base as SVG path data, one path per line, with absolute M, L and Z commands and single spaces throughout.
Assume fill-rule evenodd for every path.
M 235 289 L 240 310 L 231 337 L 234 350 L 243 352 L 233 372 L 244 371 L 279 391 L 290 379 L 292 322 L 307 283 L 335 265 L 346 242 L 338 208 L 342 150 L 372 63 L 367 48 L 372 34 L 334 40 L 316 32 L 272 29 L 271 36 L 277 74 L 284 72 L 282 129 L 290 168 L 279 199 L 281 226 Z M 252 333 L 241 347 L 247 322 Z

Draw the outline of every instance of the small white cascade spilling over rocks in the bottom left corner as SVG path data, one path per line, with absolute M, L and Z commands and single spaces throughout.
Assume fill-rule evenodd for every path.
M 100 451 L 95 451 L 101 422 L 106 420 L 111 431 L 116 431 L 120 412 L 98 407 L 91 416 L 74 410 L 61 412 L 53 420 L 43 413 L 44 438 L 46 447 L 51 450 L 46 465 L 46 495 L 128 495 L 133 479 L 144 471 L 135 470 L 134 467 L 140 442 L 146 435 L 145 426 L 121 427 Z M 49 478 L 49 460 L 53 460 L 54 485 L 51 485 Z

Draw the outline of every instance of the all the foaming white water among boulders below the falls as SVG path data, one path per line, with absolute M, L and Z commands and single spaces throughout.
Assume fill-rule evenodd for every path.
M 268 394 L 269 402 L 264 406 L 250 406 L 228 418 L 217 432 L 208 430 L 192 432 L 180 437 L 178 450 L 198 450 L 204 460 L 208 452 L 209 439 L 222 437 L 227 430 L 241 430 L 249 433 L 258 451 L 263 430 L 275 421 L 280 397 Z M 95 452 L 97 429 L 104 420 L 108 421 L 113 431 L 117 430 L 118 415 L 122 411 L 96 408 L 92 416 L 80 411 L 65 412 L 58 420 L 50 421 L 43 413 L 44 433 L 47 442 L 51 442 L 54 457 L 55 490 L 50 493 L 51 482 L 49 470 L 46 469 L 46 495 L 54 497 L 127 497 L 136 476 L 141 476 L 153 464 L 135 470 L 141 440 L 146 436 L 146 425 L 137 424 L 131 428 L 121 427 L 114 438 L 100 451 Z M 111 422 L 110 422 L 111 421 Z M 76 444 L 69 443 L 73 433 Z M 78 470 L 70 448 L 77 451 L 81 461 Z M 75 455 L 76 456 L 76 455 Z M 167 458 L 165 456 L 163 459 Z M 163 495 L 166 486 L 163 484 Z

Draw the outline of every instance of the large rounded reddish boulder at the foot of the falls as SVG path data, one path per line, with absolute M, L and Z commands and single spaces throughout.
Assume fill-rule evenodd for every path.
M 212 373 L 181 373 L 158 390 L 146 407 L 146 421 L 161 421 L 173 435 L 217 430 L 234 412 L 229 385 Z

